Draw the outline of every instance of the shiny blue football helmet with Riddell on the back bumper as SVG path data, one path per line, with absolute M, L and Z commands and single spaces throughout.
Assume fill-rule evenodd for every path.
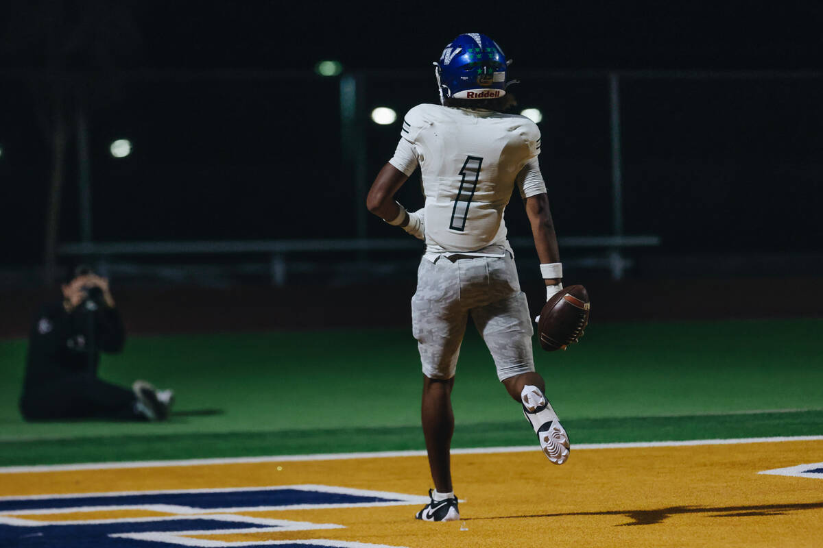
M 506 56 L 486 35 L 459 35 L 435 62 L 440 103 L 446 98 L 497 99 L 506 94 Z

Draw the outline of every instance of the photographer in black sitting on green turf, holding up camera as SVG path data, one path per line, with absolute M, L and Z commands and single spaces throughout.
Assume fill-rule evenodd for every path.
M 63 300 L 42 306 L 30 329 L 23 417 L 165 420 L 171 390 L 157 390 L 143 380 L 128 389 L 97 378 L 100 352 L 123 350 L 123 320 L 107 279 L 86 266 L 69 278 L 61 285 Z

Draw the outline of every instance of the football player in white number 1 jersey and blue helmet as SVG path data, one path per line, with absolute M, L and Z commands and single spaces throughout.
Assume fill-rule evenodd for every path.
M 374 179 L 367 207 L 425 242 L 412 297 L 412 329 L 423 367 L 421 419 L 435 490 L 416 514 L 459 518 L 450 470 L 451 391 L 467 317 L 480 331 L 511 396 L 523 405 L 546 457 L 565 463 L 569 440 L 534 369 L 532 321 L 520 290 L 504 209 L 516 187 L 525 200 L 546 299 L 562 270 L 546 185 L 537 163 L 540 130 L 503 113 L 509 62 L 486 35 L 459 35 L 435 62 L 440 104 L 418 104 L 402 122 L 392 159 Z M 407 211 L 393 196 L 421 168 L 425 206 Z M 536 270 L 537 270 L 537 265 Z

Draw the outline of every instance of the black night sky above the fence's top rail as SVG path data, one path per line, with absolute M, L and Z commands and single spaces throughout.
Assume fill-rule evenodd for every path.
M 61 2 L 6 2 L 16 5 Z M 100 3 L 100 2 L 96 2 Z M 295 68 L 341 58 L 347 67 L 427 64 L 454 35 L 494 37 L 523 66 L 812 68 L 821 66 L 817 2 L 276 2 L 130 0 L 139 44 L 123 67 Z M 67 2 L 95 9 L 95 2 Z M 30 9 L 30 8 L 29 8 Z M 24 52 L 6 66 L 42 59 Z

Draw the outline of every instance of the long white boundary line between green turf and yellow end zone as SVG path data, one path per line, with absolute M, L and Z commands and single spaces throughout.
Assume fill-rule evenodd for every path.
M 783 441 L 818 441 L 823 435 L 796 435 L 773 438 L 731 438 L 725 440 L 686 440 L 686 441 L 633 441 L 608 444 L 572 444 L 572 449 L 624 449 L 643 447 L 682 447 L 691 445 L 724 444 L 765 444 Z M 537 449 L 536 449 L 537 448 Z M 539 445 L 518 445 L 512 447 L 479 447 L 475 449 L 452 449 L 452 454 L 494 454 L 524 453 L 540 451 Z M 186 458 L 181 460 L 132 461 L 122 463 L 78 463 L 78 464 L 38 464 L 35 466 L 0 467 L 0 474 L 21 472 L 75 472 L 79 470 L 107 470 L 113 468 L 154 468 L 174 466 L 212 466 L 215 464 L 244 463 L 289 463 L 323 460 L 347 460 L 353 458 L 400 458 L 425 457 L 425 451 L 375 451 L 374 453 L 330 453 L 305 455 L 273 455 L 269 457 L 234 457 L 234 458 Z

